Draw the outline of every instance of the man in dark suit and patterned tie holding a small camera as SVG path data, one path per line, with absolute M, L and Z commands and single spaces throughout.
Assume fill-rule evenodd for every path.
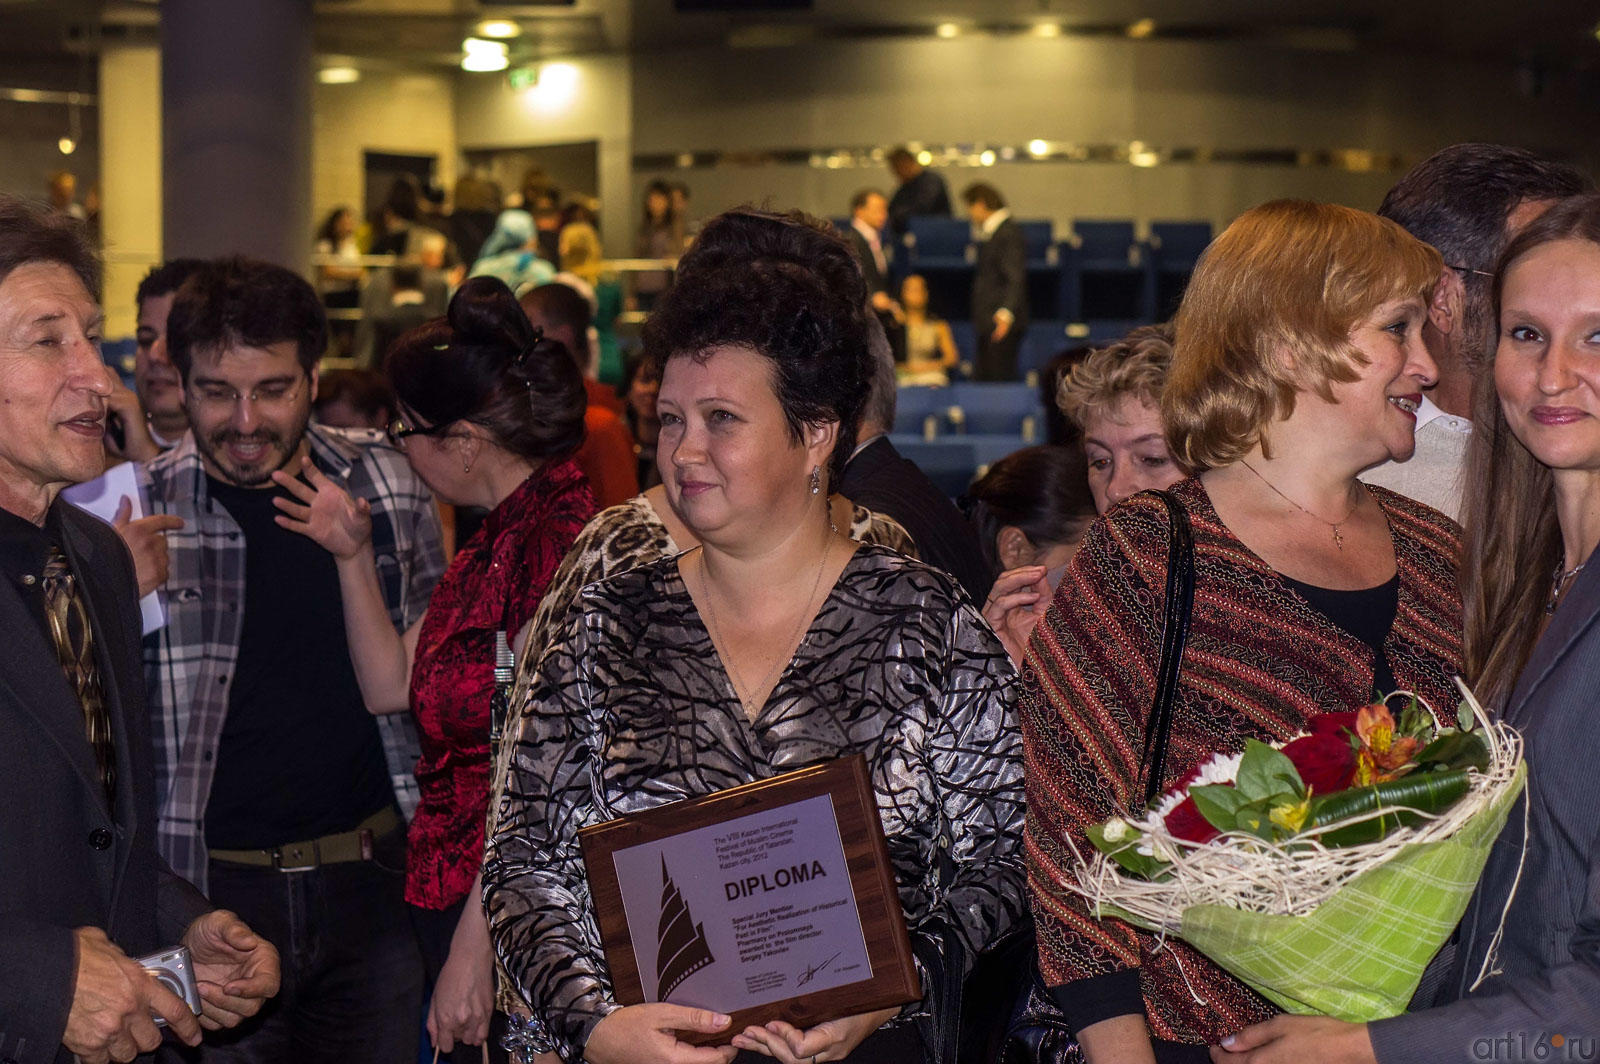
M 98 264 L 0 197 L 0 1061 L 131 1061 L 154 1018 L 195 1045 L 277 992 L 278 958 L 155 851 L 133 560 L 62 502 L 99 475 L 110 374 Z M 133 960 L 182 944 L 197 1018 Z

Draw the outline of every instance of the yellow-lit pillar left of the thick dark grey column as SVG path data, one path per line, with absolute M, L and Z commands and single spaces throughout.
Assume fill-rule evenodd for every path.
M 101 234 L 106 336 L 133 336 L 133 296 L 162 261 L 162 53 L 114 45 L 101 53 Z

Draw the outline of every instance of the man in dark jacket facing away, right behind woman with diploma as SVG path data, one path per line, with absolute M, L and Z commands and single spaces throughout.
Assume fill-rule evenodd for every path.
M 982 608 L 994 576 L 984 565 L 978 534 L 950 502 L 950 496 L 890 443 L 888 432 L 894 426 L 894 358 L 888 341 L 877 330 L 872 354 L 877 363 L 872 387 L 861 413 L 856 451 L 845 462 L 838 493 L 858 506 L 898 520 L 917 544 L 917 557 L 960 581 L 973 605 Z

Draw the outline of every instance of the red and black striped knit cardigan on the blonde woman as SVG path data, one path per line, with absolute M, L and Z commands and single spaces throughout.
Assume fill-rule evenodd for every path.
M 1459 528 L 1421 502 L 1370 490 L 1389 518 L 1398 560 L 1398 611 L 1384 645 L 1390 667 L 1402 688 L 1453 715 Z M 1248 738 L 1288 739 L 1312 715 L 1373 696 L 1371 648 L 1334 627 L 1245 547 L 1218 520 L 1198 480 L 1173 491 L 1194 526 L 1195 598 L 1163 789 L 1210 755 L 1243 749 Z M 1142 797 L 1139 755 L 1155 698 L 1168 536 L 1166 509 L 1154 494 L 1096 522 L 1029 643 L 1019 706 L 1029 888 L 1048 984 L 1136 968 L 1157 1038 L 1214 1045 L 1277 1010 L 1187 944 L 1158 944 L 1118 920 L 1096 920 L 1066 890 L 1066 840 L 1088 853 L 1085 827 L 1126 813 Z M 1123 986 L 1131 998 L 1131 981 Z

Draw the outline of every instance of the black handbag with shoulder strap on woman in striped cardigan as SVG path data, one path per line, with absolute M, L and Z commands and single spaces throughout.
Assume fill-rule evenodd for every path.
M 1142 814 L 1162 792 L 1166 774 L 1166 741 L 1173 730 L 1173 702 L 1178 699 L 1178 674 L 1182 669 L 1184 643 L 1189 642 L 1189 614 L 1195 597 L 1195 552 L 1189 530 L 1189 514 L 1166 491 L 1157 491 L 1166 504 L 1171 525 L 1171 541 L 1166 547 L 1166 603 L 1162 613 L 1162 658 L 1155 670 L 1155 702 L 1150 707 L 1150 723 L 1144 731 L 1144 752 L 1139 758 L 1139 776 L 1144 779 L 1144 803 L 1133 814 Z M 1038 971 L 1038 950 L 1029 933 L 1029 963 L 1026 968 L 1021 1011 L 1006 1030 L 998 1064 L 1082 1064 L 1083 1051 L 1067 1024 L 1066 1014 L 1056 1008 Z

